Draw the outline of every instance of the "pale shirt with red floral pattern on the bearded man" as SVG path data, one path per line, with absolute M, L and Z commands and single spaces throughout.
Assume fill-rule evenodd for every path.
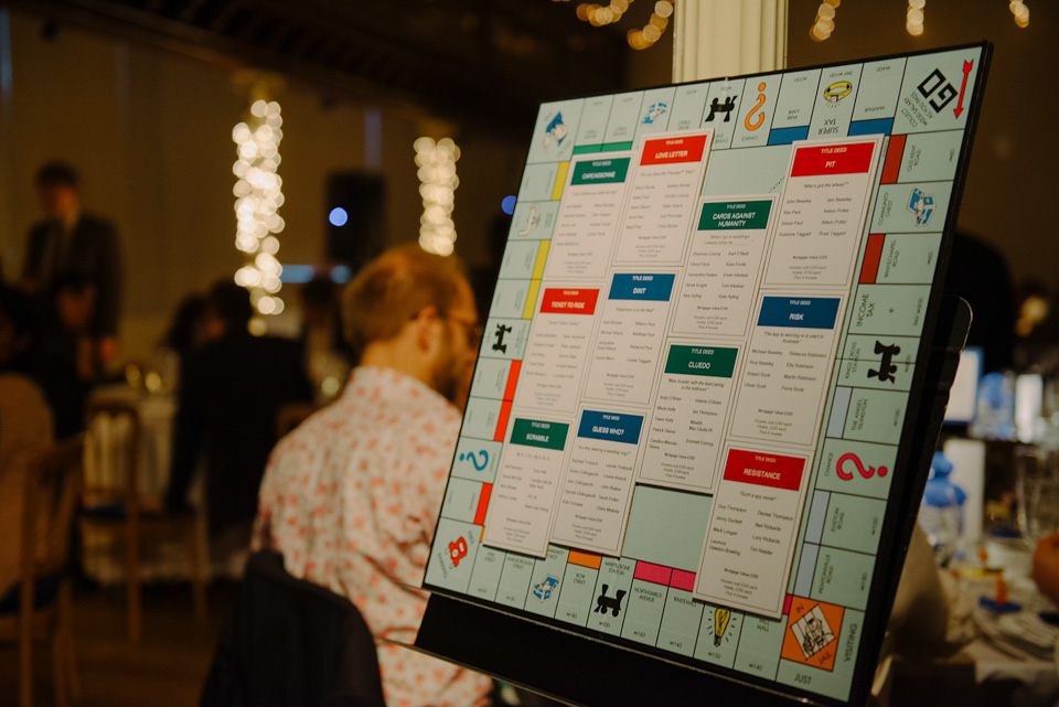
M 430 539 L 460 414 L 396 371 L 360 367 L 342 396 L 276 446 L 261 482 L 254 549 L 349 597 L 376 639 L 415 641 Z M 491 681 L 378 642 L 389 707 L 483 704 Z

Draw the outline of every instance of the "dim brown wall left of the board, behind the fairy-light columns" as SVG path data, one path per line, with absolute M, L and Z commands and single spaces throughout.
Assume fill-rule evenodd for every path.
M 188 292 L 243 265 L 234 245 L 232 128 L 249 105 L 246 82 L 210 64 L 77 28 L 62 25 L 52 35 L 32 14 L 12 11 L 9 18 L 13 71 L 0 100 L 3 275 L 18 277 L 26 231 L 41 216 L 36 169 L 49 159 L 69 161 L 81 171 L 86 208 L 110 217 L 121 238 L 122 352 L 149 356 Z M 367 169 L 365 111 L 372 107 L 291 83 L 272 98 L 284 117 L 286 228 L 278 257 L 319 264 L 327 176 Z M 450 130 L 462 153 L 457 253 L 483 265 L 491 222 L 503 197 L 517 190 L 521 140 L 506 143 L 457 125 L 439 128 L 429 116 L 382 110 L 376 153 L 386 184 L 387 235 L 393 243 L 418 237 L 422 204 L 413 142 L 439 129 Z M 287 285 L 280 294 L 295 306 L 296 292 L 297 286 Z

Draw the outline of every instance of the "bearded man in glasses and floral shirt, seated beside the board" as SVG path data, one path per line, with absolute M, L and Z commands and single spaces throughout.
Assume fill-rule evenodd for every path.
M 365 266 L 342 313 L 357 367 L 342 395 L 272 452 L 254 548 L 278 550 L 292 576 L 349 597 L 376 639 L 410 644 L 478 312 L 457 265 L 413 245 Z M 489 678 L 377 644 L 387 705 L 488 700 Z

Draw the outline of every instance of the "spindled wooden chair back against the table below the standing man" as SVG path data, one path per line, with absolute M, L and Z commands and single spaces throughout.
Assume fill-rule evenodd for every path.
M 104 399 L 88 404 L 85 441 L 85 505 L 120 503 L 126 513 L 139 506 L 139 408 L 131 400 Z

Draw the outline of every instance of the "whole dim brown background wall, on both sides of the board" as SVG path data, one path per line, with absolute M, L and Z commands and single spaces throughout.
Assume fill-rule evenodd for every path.
M 1059 8 L 1040 0 L 1027 4 L 1030 25 L 1020 30 L 999 0 L 930 0 L 927 32 L 912 38 L 903 26 L 903 0 L 845 2 L 832 38 L 815 43 L 809 28 L 819 2 L 790 0 L 788 65 L 993 41 L 960 225 L 997 245 L 1016 281 L 1036 278 L 1055 288 L 1059 248 L 1051 244 L 1051 192 L 1059 132 L 1050 124 L 1059 101 L 1059 74 L 1051 69 Z M 248 105 L 245 85 L 229 71 L 76 28 L 63 25 L 45 35 L 42 20 L 32 14 L 10 13 L 10 38 L 12 81 L 0 76 L 4 275 L 18 275 L 26 228 L 40 214 L 33 173 L 46 159 L 72 161 L 83 173 L 88 208 L 119 227 L 127 271 L 122 343 L 130 356 L 148 355 L 186 292 L 242 264 L 234 247 L 231 131 Z M 629 87 L 667 83 L 671 53 L 672 32 L 666 32 L 656 46 L 631 54 L 621 67 Z M 279 173 L 287 199 L 279 257 L 317 263 L 323 256 L 327 174 L 366 169 L 370 107 L 290 83 L 275 98 L 284 111 Z M 511 136 L 504 142 L 448 128 L 462 151 L 453 214 L 457 253 L 483 265 L 499 204 L 517 189 L 526 138 Z M 421 205 L 411 143 L 437 129 L 429 116 L 382 113 L 379 169 L 392 242 L 416 237 Z M 292 289 L 285 288 L 288 302 L 296 301 Z

